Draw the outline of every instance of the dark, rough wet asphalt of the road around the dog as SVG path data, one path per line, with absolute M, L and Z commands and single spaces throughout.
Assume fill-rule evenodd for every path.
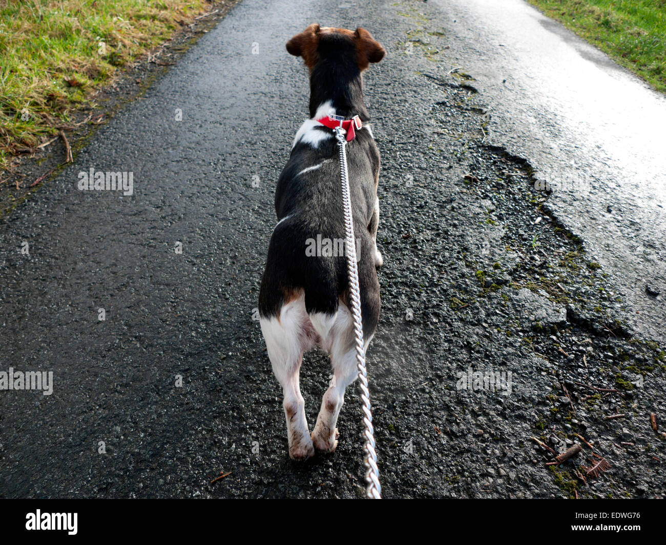
M 474 51 L 466 33 L 495 24 L 455 6 L 244 0 L 3 218 L 0 370 L 53 371 L 53 394 L 0 392 L 2 496 L 362 495 L 355 395 L 336 453 L 289 460 L 254 319 L 274 184 L 307 116 L 306 73 L 284 43 L 313 21 L 366 27 L 388 51 L 366 75 L 382 152 L 382 317 L 368 361 L 384 495 L 569 496 L 569 475 L 529 439 L 539 430 L 557 448 L 583 433 L 612 461 L 581 495 L 665 494 L 665 442 L 646 416 L 666 414 L 659 335 L 631 330 L 627 281 L 597 273 L 601 258 L 567 231 L 578 224 L 539 208 L 525 162 L 537 142 L 487 145 L 528 128 L 494 120 L 471 61 L 450 73 Z M 90 168 L 133 172 L 133 194 L 80 191 Z M 563 217 L 577 214 L 571 204 Z M 550 296 L 555 278 L 566 301 Z M 513 388 L 461 390 L 470 367 L 511 371 Z M 636 378 L 623 373 L 645 385 L 590 406 L 570 383 L 577 412 L 563 416 L 558 377 Z M 308 356 L 310 422 L 327 383 L 326 357 Z

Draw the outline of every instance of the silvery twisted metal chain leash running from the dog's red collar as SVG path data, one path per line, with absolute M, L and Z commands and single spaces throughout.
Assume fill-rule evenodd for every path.
M 349 277 L 349 298 L 352 317 L 354 318 L 354 335 L 356 336 L 356 367 L 358 384 L 361 391 L 361 410 L 363 412 L 363 435 L 366 438 L 363 447 L 363 464 L 366 466 L 366 496 L 374 500 L 382 498 L 382 485 L 379 482 L 377 452 L 375 450 L 372 412 L 370 411 L 370 391 L 368 391 L 368 374 L 366 372 L 366 356 L 363 347 L 363 325 L 361 322 L 361 299 L 358 287 L 358 266 L 356 265 L 356 238 L 354 237 L 354 221 L 352 218 L 352 201 L 349 191 L 347 172 L 347 140 L 342 128 L 335 129 L 340 151 L 340 178 L 342 180 L 342 206 L 344 208 L 344 230 L 346 234 L 345 254 L 347 256 L 347 273 Z

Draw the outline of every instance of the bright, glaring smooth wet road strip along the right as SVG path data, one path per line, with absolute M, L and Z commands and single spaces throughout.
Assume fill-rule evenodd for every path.
M 456 66 L 492 110 L 490 141 L 529 158 L 549 207 L 666 340 L 666 96 L 521 0 L 436 0 Z M 452 46 L 454 47 L 454 46 Z

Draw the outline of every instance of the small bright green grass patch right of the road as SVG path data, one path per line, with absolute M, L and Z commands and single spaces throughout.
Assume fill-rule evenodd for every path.
M 666 92 L 666 0 L 528 0 Z

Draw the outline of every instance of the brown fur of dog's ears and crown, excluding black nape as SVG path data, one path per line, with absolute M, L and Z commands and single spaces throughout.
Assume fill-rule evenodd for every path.
M 317 23 L 312 23 L 302 33 L 290 39 L 286 44 L 287 51 L 295 57 L 303 57 L 306 66 L 312 71 L 319 59 L 320 41 L 325 39 L 326 35 L 333 33 L 345 37 L 353 43 L 356 51 L 356 64 L 360 71 L 368 68 L 370 63 L 378 63 L 386 55 L 384 48 L 372 39 L 372 35 L 366 29 L 358 28 L 354 32 L 348 29 L 320 27 Z

